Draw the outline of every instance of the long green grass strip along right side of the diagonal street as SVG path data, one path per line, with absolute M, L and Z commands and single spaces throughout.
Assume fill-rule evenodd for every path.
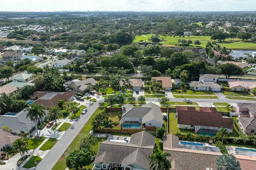
M 78 133 L 78 135 L 74 138 L 74 140 L 72 141 L 72 143 L 68 146 L 68 148 L 65 150 L 64 154 L 60 157 L 60 159 L 58 160 L 58 162 L 54 165 L 54 167 L 52 168 L 53 170 L 64 170 L 66 168 L 66 156 L 68 156 L 68 154 L 79 148 L 79 144 L 80 144 L 80 140 L 84 135 L 87 135 L 90 130 L 92 129 L 92 125 L 91 125 L 91 121 L 92 119 L 95 117 L 95 115 L 97 115 L 98 113 L 104 111 L 104 107 L 98 107 L 98 109 L 96 109 L 96 111 L 92 114 L 92 116 L 90 117 L 90 119 L 86 122 L 86 124 L 84 125 L 84 127 L 81 129 L 81 131 Z M 97 150 L 98 151 L 98 150 Z M 93 164 L 90 164 L 90 166 L 86 167 L 87 169 L 93 168 Z

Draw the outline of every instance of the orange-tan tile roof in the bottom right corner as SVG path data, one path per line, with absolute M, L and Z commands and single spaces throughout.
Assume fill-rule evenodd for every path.
M 254 156 L 245 156 L 234 154 L 236 160 L 240 162 L 241 170 L 254 170 L 256 166 L 256 157 Z

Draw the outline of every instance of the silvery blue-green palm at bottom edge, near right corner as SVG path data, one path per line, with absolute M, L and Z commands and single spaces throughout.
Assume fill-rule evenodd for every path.
M 217 170 L 241 170 L 240 162 L 232 154 L 220 155 L 216 161 Z

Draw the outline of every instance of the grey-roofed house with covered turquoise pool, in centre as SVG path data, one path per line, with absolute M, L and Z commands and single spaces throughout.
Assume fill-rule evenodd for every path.
M 150 102 L 141 107 L 125 104 L 122 107 L 122 129 L 134 128 L 134 125 L 137 129 L 155 129 L 157 127 L 162 127 L 163 124 L 164 121 L 160 106 L 156 104 Z

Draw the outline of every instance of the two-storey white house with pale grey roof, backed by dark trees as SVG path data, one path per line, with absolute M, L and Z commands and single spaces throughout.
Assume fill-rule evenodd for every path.
M 190 88 L 196 91 L 220 91 L 222 86 L 217 83 L 217 76 L 214 74 L 200 74 L 199 81 L 192 81 Z

